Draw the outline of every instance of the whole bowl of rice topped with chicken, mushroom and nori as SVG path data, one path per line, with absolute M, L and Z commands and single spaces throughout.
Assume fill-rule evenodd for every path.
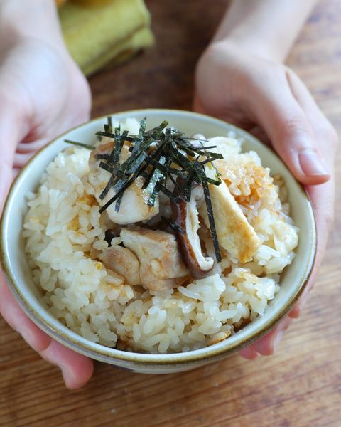
M 16 179 L 1 222 L 1 262 L 31 319 L 141 372 L 191 369 L 259 339 L 314 256 L 310 202 L 271 149 L 175 110 L 55 139 Z

